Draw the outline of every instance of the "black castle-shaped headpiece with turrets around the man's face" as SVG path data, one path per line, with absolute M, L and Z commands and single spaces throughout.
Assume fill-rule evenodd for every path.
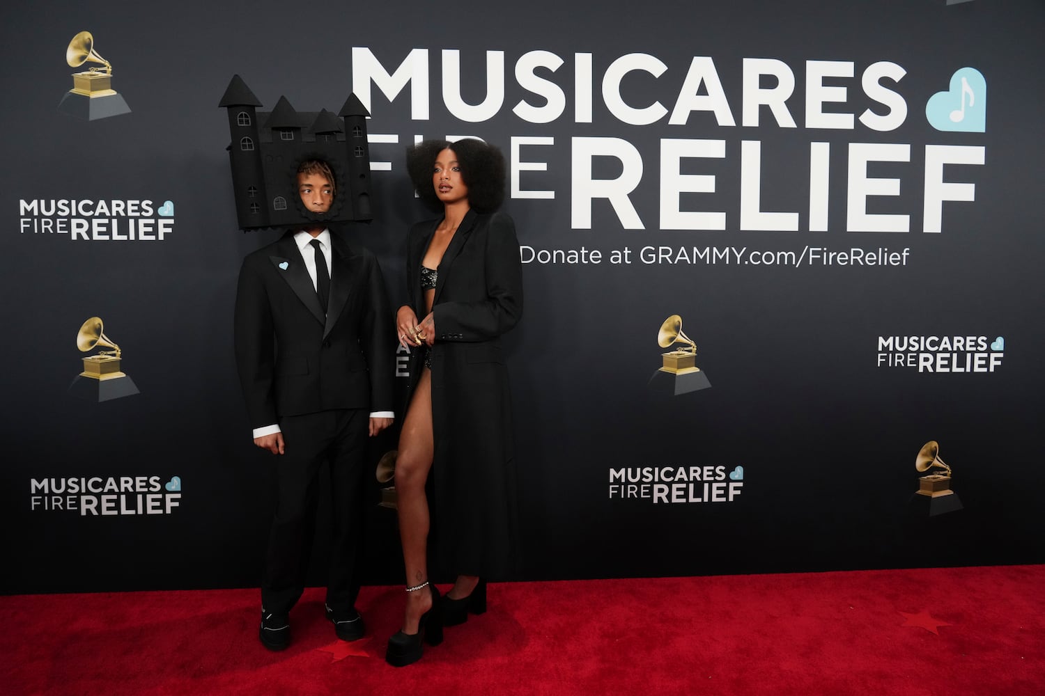
M 325 109 L 295 111 L 286 97 L 280 97 L 272 112 L 259 112 L 261 102 L 239 75 L 233 75 L 218 106 L 229 113 L 229 163 L 241 230 L 373 217 L 369 114 L 354 94 L 338 116 Z M 320 216 L 305 210 L 298 195 L 298 165 L 306 160 L 326 162 L 336 179 L 333 205 Z

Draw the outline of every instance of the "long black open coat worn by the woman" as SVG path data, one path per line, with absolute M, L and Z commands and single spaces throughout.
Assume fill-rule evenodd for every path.
M 407 287 L 418 320 L 425 316 L 421 260 L 439 222 L 415 224 L 407 241 Z M 516 486 L 501 336 L 522 313 L 515 223 L 503 213 L 469 211 L 437 270 L 432 541 L 443 571 L 504 577 L 515 551 Z M 421 354 L 411 355 L 411 393 L 421 374 Z

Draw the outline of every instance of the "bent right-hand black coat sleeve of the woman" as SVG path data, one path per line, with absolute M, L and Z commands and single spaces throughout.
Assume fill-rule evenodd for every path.
M 507 215 L 490 218 L 485 264 L 485 299 L 445 302 L 433 309 L 439 340 L 488 340 L 507 333 L 522 316 L 522 263 L 515 223 Z

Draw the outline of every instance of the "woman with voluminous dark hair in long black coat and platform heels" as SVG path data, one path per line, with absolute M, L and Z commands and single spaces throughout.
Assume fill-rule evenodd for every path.
M 407 240 L 409 302 L 396 313 L 411 351 L 408 409 L 395 465 L 407 570 L 395 666 L 438 645 L 443 626 L 486 610 L 486 581 L 508 573 L 515 459 L 501 336 L 522 313 L 522 272 L 504 199 L 505 162 L 481 140 L 425 141 L 408 150 L 417 194 L 436 219 Z M 429 529 L 439 567 L 456 581 L 441 598 L 428 581 Z

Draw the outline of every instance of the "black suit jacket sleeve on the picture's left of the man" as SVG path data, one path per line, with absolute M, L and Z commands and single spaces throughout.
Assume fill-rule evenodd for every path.
M 272 309 L 264 283 L 249 259 L 239 269 L 233 323 L 236 369 L 251 427 L 273 425 L 278 418 L 273 394 L 275 339 Z

